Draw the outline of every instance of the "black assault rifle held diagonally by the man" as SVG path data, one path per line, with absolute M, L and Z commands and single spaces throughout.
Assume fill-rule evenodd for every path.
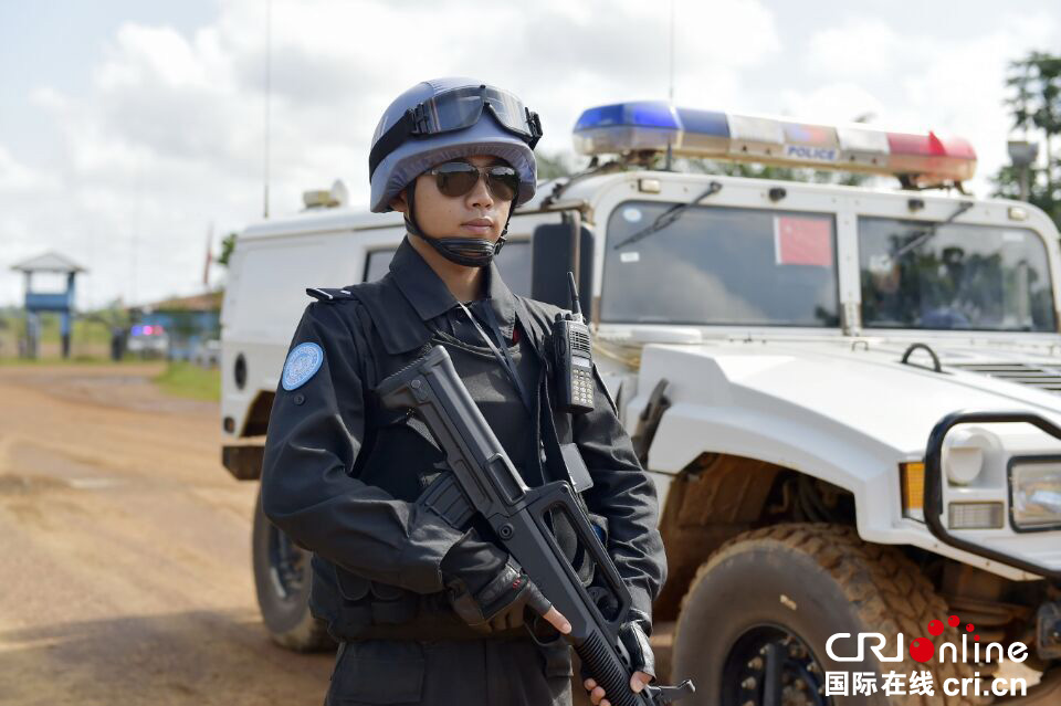
M 385 379 L 376 393 L 386 409 L 411 410 L 428 426 L 452 471 L 442 473 L 418 498 L 456 528 L 481 514 L 510 555 L 571 624 L 565 637 L 614 706 L 659 706 L 692 694 L 680 686 L 630 688 L 630 655 L 619 628 L 630 592 L 566 481 L 529 488 L 523 482 L 442 346 Z M 595 562 L 592 593 L 557 545 L 547 517 L 561 513 Z M 532 632 L 532 636 L 534 633 Z M 535 636 L 537 640 L 537 636 Z

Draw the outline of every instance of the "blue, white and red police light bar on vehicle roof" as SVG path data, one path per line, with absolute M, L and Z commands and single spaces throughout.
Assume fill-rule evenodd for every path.
M 781 166 L 890 175 L 918 186 L 970 179 L 976 151 L 962 138 L 828 126 L 634 101 L 589 108 L 575 124 L 582 155 L 666 151 Z

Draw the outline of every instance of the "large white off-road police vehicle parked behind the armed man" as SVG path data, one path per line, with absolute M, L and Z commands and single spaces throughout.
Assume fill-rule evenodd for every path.
M 672 676 L 697 682 L 691 700 L 989 703 L 944 688 L 990 673 L 986 660 L 863 663 L 876 676 L 929 671 L 933 695 L 826 688 L 827 672 L 850 668 L 827 651 L 833 635 L 880 633 L 892 653 L 899 633 L 908 646 L 957 615 L 932 639 L 1021 642 L 1043 673 L 1005 703 L 1061 703 L 1053 223 L 1026 203 L 921 190 L 975 168 L 967 143 L 932 133 L 642 102 L 587 110 L 575 140 L 619 157 L 539 187 L 498 265 L 513 291 L 564 306 L 565 273 L 578 273 L 597 365 L 660 491 L 670 578 L 655 619 L 676 621 Z M 906 188 L 638 166 L 659 154 Z M 235 477 L 260 473 L 304 287 L 380 276 L 402 236 L 398 214 L 344 208 L 240 235 L 222 312 Z M 260 509 L 254 571 L 274 639 L 321 644 L 308 561 Z

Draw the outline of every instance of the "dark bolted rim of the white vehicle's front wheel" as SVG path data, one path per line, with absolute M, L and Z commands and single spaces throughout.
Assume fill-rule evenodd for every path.
M 796 634 L 758 625 L 742 634 L 726 655 L 723 706 L 831 706 L 824 671 Z

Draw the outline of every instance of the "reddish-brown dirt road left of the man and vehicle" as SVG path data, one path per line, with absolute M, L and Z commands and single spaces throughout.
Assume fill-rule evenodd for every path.
M 0 369 L 0 704 L 316 706 L 330 655 L 258 615 L 256 485 L 159 369 Z

